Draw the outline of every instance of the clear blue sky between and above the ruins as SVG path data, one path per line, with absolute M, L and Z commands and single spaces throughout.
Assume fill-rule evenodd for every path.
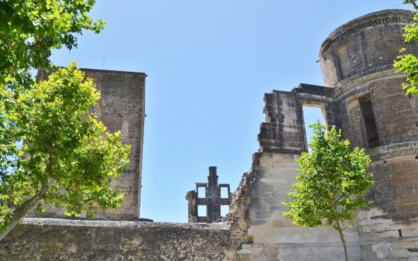
M 100 0 L 91 15 L 107 21 L 104 31 L 84 33 L 78 49 L 52 60 L 148 74 L 141 217 L 187 222 L 185 195 L 207 182 L 209 166 L 231 191 L 249 171 L 264 93 L 323 85 L 316 60 L 327 35 L 391 8 L 405 7 L 401 0 Z

